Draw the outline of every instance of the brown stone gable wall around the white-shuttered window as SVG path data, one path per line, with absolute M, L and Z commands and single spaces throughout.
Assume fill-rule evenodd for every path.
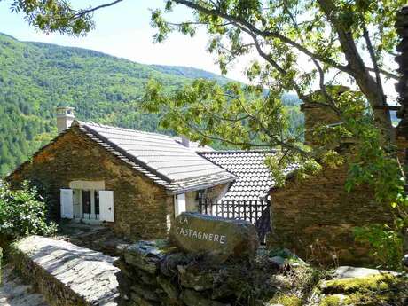
M 174 216 L 173 196 L 138 175 L 123 161 L 72 127 L 31 161 L 8 177 L 13 185 L 30 180 L 43 186 L 54 203 L 51 213 L 59 218 L 59 190 L 74 180 L 105 181 L 114 191 L 114 231 L 130 239 L 167 236 Z

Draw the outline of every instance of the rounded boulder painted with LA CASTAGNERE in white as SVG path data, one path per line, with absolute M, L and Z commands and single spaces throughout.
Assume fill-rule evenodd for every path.
M 198 213 L 177 216 L 169 239 L 184 252 L 210 255 L 219 262 L 252 260 L 259 247 L 254 224 Z

